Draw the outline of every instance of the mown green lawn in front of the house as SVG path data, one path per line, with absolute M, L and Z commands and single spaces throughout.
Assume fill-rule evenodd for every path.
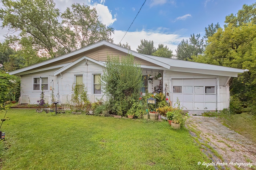
M 167 122 L 10 109 L 2 169 L 209 169 L 188 130 Z M 4 113 L 0 113 L 4 117 Z M 214 167 L 210 167 L 214 168 Z

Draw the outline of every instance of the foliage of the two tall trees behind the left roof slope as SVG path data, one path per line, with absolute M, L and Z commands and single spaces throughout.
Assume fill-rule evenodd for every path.
M 56 57 L 102 39 L 113 41 L 114 29 L 102 24 L 89 6 L 72 4 L 72 10 L 61 14 L 53 0 L 2 0 L 2 4 L 2 27 L 19 31 L 18 37 L 7 36 L 18 49 Z

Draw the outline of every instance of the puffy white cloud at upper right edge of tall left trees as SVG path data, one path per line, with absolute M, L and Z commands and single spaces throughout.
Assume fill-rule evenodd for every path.
M 106 26 L 112 25 L 116 21 L 116 18 L 112 18 L 111 11 L 108 10 L 107 6 L 96 4 L 92 8 L 96 8 L 99 20 Z

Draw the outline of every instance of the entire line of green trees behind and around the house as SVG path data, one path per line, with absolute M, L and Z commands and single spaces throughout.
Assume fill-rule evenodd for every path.
M 113 42 L 114 28 L 99 21 L 96 9 L 89 6 L 72 4 L 61 13 L 53 0 L 2 0 L 2 4 L 2 27 L 10 29 L 0 43 L 2 74 L 102 39 Z M 128 43 L 118 45 L 130 49 Z M 167 46 L 159 44 L 156 48 L 153 41 L 145 39 L 136 50 L 147 55 L 249 69 L 230 82 L 230 110 L 256 114 L 256 3 L 245 4 L 237 14 L 226 16 L 223 28 L 212 23 L 205 27 L 204 36 L 193 33 L 189 39 L 183 39 L 176 55 Z

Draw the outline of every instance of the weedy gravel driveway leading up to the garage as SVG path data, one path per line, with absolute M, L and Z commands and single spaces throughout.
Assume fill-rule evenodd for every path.
M 198 139 L 202 151 L 215 164 L 223 163 L 222 168 L 236 170 L 239 163 L 242 163 L 244 165 L 241 164 L 240 168 L 256 170 L 256 144 L 222 125 L 218 118 L 192 115 L 187 120 L 187 127 L 190 129 L 190 134 Z M 217 151 L 217 154 L 212 152 L 211 147 Z M 250 164 L 246 165 L 248 162 L 253 164 L 251 168 L 249 168 Z

